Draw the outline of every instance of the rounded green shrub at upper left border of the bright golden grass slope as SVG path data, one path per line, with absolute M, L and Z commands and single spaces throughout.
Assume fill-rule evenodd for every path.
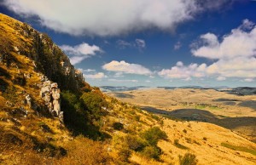
M 146 130 L 142 137 L 148 141 L 149 145 L 157 145 L 160 139 L 167 139 L 167 134 L 159 127 L 154 127 Z

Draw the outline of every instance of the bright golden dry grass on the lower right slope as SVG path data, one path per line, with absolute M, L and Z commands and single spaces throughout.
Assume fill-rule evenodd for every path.
M 183 130 L 186 129 L 187 133 Z M 256 156 L 242 151 L 233 151 L 221 145 L 223 142 L 246 146 L 253 150 L 256 145 L 234 134 L 228 129 L 218 127 L 207 122 L 175 122 L 165 120 L 163 130 L 166 131 L 170 141 L 160 141 L 159 146 L 166 153 L 163 159 L 172 157 L 172 162 L 177 163 L 179 155 L 183 156 L 186 152 L 192 152 L 198 159 L 199 164 L 254 164 Z M 183 150 L 175 145 L 174 139 L 188 147 Z

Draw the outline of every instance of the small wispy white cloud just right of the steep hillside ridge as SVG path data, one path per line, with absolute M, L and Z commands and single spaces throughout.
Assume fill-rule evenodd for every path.
M 69 56 L 71 64 L 75 65 L 82 60 L 95 55 L 97 52 L 102 52 L 102 49 L 96 45 L 90 46 L 88 43 L 81 43 L 79 45 L 61 45 L 60 48 Z

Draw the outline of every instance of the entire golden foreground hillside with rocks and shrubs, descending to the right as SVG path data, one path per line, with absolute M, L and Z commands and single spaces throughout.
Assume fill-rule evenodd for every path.
M 160 117 L 90 87 L 46 34 L 4 14 L 0 85 L 1 164 L 256 162 L 255 143 L 227 128 Z

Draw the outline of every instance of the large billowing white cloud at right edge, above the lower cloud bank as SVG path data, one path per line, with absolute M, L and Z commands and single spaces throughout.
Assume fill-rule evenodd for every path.
M 244 29 L 250 28 L 248 31 Z M 236 57 L 253 57 L 256 54 L 256 27 L 249 20 L 244 20 L 237 29 L 224 35 L 222 41 L 212 33 L 201 35 L 204 45 L 193 48 L 192 54 L 207 59 L 233 59 Z

